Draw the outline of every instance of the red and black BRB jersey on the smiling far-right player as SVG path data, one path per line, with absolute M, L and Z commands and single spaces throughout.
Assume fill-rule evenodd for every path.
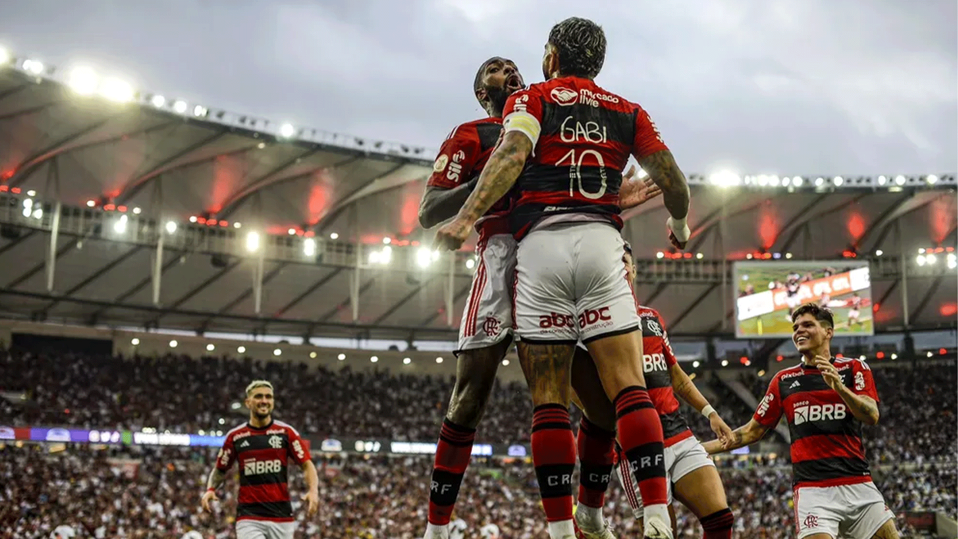
M 846 387 L 878 402 L 868 363 L 834 358 L 832 363 Z M 796 488 L 872 479 L 861 442 L 861 423 L 838 393 L 828 387 L 818 367 L 801 363 L 772 378 L 753 418 L 772 428 L 783 414 L 791 434 L 792 482 Z

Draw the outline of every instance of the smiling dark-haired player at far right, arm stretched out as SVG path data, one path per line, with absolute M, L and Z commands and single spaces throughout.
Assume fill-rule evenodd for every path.
M 784 415 L 791 434 L 795 528 L 798 539 L 899 539 L 895 515 L 868 469 L 861 424 L 878 423 L 878 391 L 861 360 L 832 356 L 832 312 L 814 303 L 792 314 L 802 363 L 779 371 L 755 415 L 709 454 L 754 443 Z

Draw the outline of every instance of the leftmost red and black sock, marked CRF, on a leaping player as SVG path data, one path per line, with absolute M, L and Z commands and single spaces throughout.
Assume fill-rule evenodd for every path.
M 449 524 L 452 508 L 459 496 L 459 486 L 472 455 L 472 441 L 476 430 L 443 420 L 436 446 L 436 461 L 432 468 L 429 485 L 429 523 L 437 526 Z

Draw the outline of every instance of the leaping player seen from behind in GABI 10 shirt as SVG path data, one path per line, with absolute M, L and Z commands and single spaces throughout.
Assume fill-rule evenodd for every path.
M 517 185 L 510 212 L 519 240 L 514 316 L 535 406 L 533 461 L 549 533 L 574 535 L 576 442 L 568 405 L 582 340 L 616 407 L 618 437 L 646 502 L 645 535 L 671 538 L 662 425 L 638 361 L 642 340 L 622 264 L 618 194 L 632 154 L 662 189 L 672 215 L 670 240 L 683 248 L 691 235 L 688 184 L 648 113 L 593 82 L 605 58 L 599 25 L 566 19 L 553 27 L 545 49 L 547 82 L 507 100 L 502 143 L 437 240 L 459 248 L 473 223 Z

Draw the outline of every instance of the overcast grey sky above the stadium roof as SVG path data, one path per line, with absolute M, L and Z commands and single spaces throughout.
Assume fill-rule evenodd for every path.
M 439 147 L 490 56 L 540 82 L 551 26 L 608 39 L 597 82 L 689 173 L 955 172 L 953 0 L 8 0 L 0 44 L 144 90 Z

